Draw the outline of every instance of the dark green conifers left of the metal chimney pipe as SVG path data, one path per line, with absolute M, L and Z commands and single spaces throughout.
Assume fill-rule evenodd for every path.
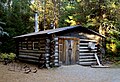
M 2 4 L 2 5 L 1 5 Z M 1 25 L 10 37 L 0 38 L 0 52 L 15 52 L 14 36 L 33 32 L 34 21 L 30 20 L 33 12 L 29 7 L 30 0 L 1 0 L 0 19 L 5 24 Z

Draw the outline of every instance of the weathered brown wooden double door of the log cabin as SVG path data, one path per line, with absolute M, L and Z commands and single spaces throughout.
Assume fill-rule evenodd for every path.
M 79 59 L 78 38 L 59 38 L 59 61 L 64 65 L 73 65 Z

